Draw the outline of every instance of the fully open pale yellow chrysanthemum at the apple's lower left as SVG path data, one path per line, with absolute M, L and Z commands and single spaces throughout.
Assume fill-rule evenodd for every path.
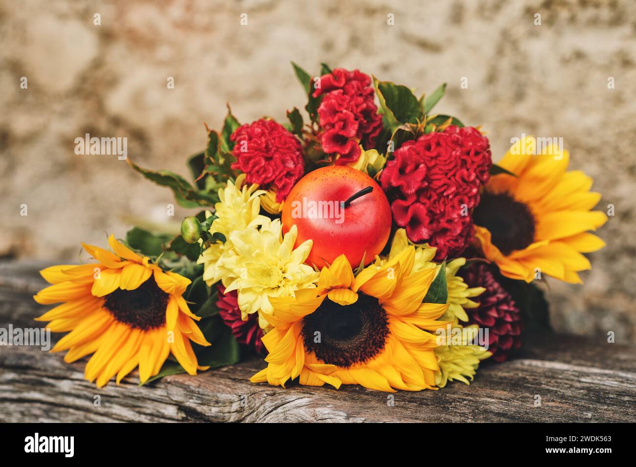
M 217 264 L 223 277 L 225 292 L 237 290 L 243 319 L 260 311 L 272 313 L 270 297 L 289 297 L 296 290 L 315 287 L 318 273 L 305 263 L 312 249 L 307 240 L 294 249 L 298 229 L 292 226 L 283 236 L 280 219 L 265 219 L 260 229 L 254 227 L 233 231 L 226 250 Z M 268 322 L 259 313 L 259 324 Z

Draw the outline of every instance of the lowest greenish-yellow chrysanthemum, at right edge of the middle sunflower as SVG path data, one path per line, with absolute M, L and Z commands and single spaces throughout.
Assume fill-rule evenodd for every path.
M 454 326 L 461 328 L 460 326 Z M 464 328 L 478 330 L 477 325 Z M 476 345 L 443 345 L 435 348 L 435 356 L 438 360 L 439 370 L 435 373 L 435 383 L 439 388 L 446 386 L 448 381 L 455 379 L 471 384 L 467 378 L 473 381 L 477 367 L 481 360 L 488 358 L 492 353 L 485 348 Z

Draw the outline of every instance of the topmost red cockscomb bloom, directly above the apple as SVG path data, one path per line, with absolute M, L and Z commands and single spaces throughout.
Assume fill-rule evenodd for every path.
M 318 107 L 322 150 L 340 154 L 336 165 L 355 162 L 364 149 L 375 146 L 382 117 L 374 102 L 371 79 L 357 70 L 336 68 L 320 78 L 314 97 L 324 95 Z

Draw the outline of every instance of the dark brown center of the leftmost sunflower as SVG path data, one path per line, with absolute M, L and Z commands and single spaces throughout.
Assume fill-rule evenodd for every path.
M 104 308 L 110 311 L 117 321 L 145 331 L 165 323 L 167 304 L 168 294 L 163 292 L 151 277 L 135 290 L 118 288 L 106 295 Z

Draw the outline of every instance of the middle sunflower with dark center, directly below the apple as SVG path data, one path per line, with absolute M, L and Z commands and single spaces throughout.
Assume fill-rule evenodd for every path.
M 448 324 L 436 320 L 448 305 L 422 303 L 435 269 L 413 273 L 414 261 L 411 246 L 354 276 L 340 255 L 322 269 L 317 288 L 270 298 L 273 312 L 266 319 L 273 329 L 263 337 L 268 365 L 251 381 L 434 389 L 437 344 L 428 331 Z

